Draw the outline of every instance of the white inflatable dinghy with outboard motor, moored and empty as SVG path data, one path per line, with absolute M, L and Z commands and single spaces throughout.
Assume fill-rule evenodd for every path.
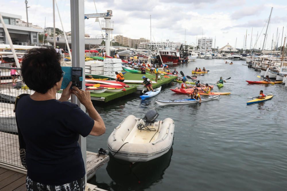
M 117 159 L 146 162 L 168 152 L 173 134 L 174 121 L 170 118 L 146 124 L 143 119 L 129 115 L 108 137 L 108 149 Z

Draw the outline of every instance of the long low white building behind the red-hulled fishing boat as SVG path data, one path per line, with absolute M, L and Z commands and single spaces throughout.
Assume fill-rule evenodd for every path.
M 158 49 L 174 49 L 180 48 L 181 42 L 142 42 L 139 44 L 139 48 L 146 48 L 150 49 L 150 46 L 152 46 L 152 50 L 156 50 L 156 45 L 158 46 Z

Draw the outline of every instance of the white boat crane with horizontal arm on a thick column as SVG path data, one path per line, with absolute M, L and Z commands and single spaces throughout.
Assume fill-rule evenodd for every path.
M 102 21 L 102 29 L 106 30 L 106 55 L 110 56 L 110 31 L 114 29 L 114 21 L 111 21 L 113 16 L 112 10 L 107 10 L 105 13 L 85 14 L 85 19 L 89 18 L 104 18 Z

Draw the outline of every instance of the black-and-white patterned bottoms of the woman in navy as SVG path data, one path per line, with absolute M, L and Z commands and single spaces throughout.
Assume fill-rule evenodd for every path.
M 31 180 L 28 176 L 26 178 L 26 186 L 28 191 L 84 191 L 85 190 L 85 177 L 80 178 L 71 183 L 51 186 L 42 184 L 40 182 L 35 182 Z

